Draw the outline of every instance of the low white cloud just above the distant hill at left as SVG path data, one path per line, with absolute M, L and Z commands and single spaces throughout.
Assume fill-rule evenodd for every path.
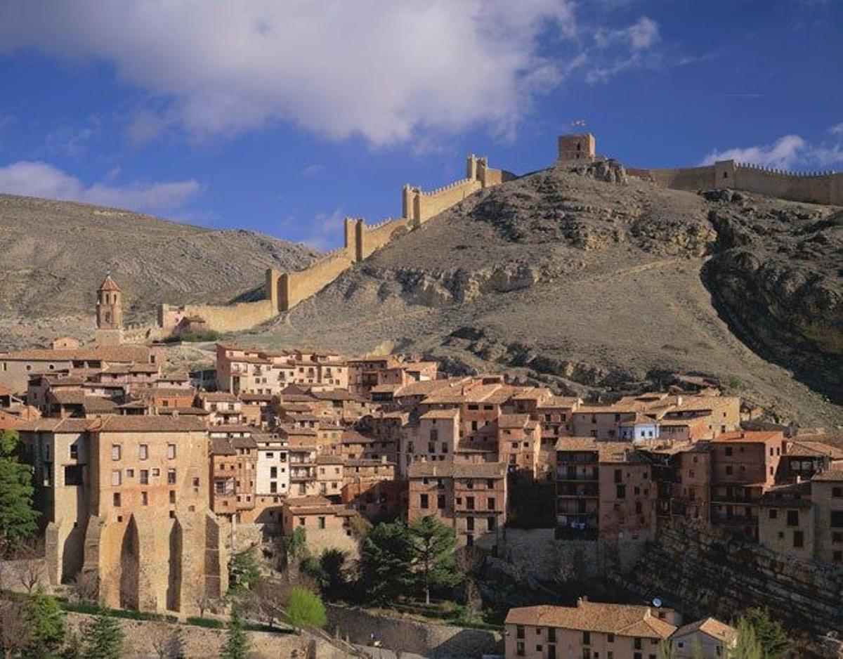
M 62 169 L 28 160 L 0 168 L 0 192 L 133 210 L 178 208 L 200 190 L 201 185 L 194 179 L 154 183 L 136 181 L 124 186 L 103 183 L 85 186 Z

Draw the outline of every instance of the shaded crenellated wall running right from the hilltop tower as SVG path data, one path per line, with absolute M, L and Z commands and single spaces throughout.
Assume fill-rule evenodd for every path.
M 843 206 L 843 174 L 834 172 L 787 172 L 720 160 L 713 165 L 678 169 L 631 167 L 626 173 L 674 190 L 733 188 L 790 201 Z

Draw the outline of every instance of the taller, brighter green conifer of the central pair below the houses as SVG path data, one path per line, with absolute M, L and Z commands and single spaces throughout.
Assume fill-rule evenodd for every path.
M 416 559 L 421 589 L 426 603 L 430 603 L 433 588 L 453 587 L 459 583 L 457 561 L 454 557 L 456 538 L 436 517 L 426 515 L 409 526 L 413 554 Z

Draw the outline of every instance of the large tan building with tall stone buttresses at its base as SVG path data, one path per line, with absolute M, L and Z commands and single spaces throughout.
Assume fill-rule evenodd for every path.
M 107 416 L 20 429 L 40 474 L 52 583 L 89 572 L 109 606 L 158 611 L 191 611 L 200 594 L 225 591 L 201 421 Z

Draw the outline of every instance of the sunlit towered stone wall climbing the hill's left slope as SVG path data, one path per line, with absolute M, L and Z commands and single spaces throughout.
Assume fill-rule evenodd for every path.
M 485 157 L 470 155 L 466 160 L 464 179 L 430 191 L 405 185 L 401 191 L 401 217 L 389 217 L 372 225 L 361 218 L 346 217 L 341 248 L 324 254 L 304 270 L 266 271 L 265 299 L 228 305 L 161 304 L 158 308 L 158 328 L 161 334 L 167 335 L 183 319 L 191 317 L 204 319 L 209 329 L 218 332 L 237 332 L 266 323 L 278 313 L 314 296 L 352 265 L 367 259 L 389 241 L 421 226 L 478 190 L 514 178 L 514 174 L 488 167 Z

